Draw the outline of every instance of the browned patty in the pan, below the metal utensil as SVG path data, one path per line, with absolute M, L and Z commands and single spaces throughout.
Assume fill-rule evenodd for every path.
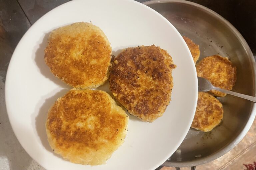
M 223 119 L 223 107 L 220 101 L 205 92 L 198 92 L 196 114 L 191 125 L 201 131 L 211 131 L 221 123 Z

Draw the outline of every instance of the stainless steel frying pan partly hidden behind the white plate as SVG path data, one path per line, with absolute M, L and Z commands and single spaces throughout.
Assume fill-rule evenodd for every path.
M 233 91 L 255 96 L 256 64 L 253 54 L 241 34 L 228 21 L 212 10 L 188 1 L 153 0 L 144 4 L 162 14 L 181 35 L 200 45 L 199 60 L 214 54 L 230 58 L 237 67 Z M 224 155 L 245 136 L 254 121 L 256 105 L 230 95 L 219 100 L 224 107 L 221 125 L 211 132 L 190 129 L 178 150 L 163 166 L 195 168 Z

